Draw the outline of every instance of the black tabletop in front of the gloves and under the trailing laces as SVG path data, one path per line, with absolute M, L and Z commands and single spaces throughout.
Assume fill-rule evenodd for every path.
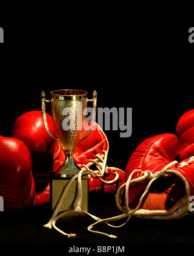
M 89 213 L 100 218 L 120 215 L 114 199 L 114 194 L 90 196 Z M 111 239 L 104 235 L 90 233 L 87 226 L 95 220 L 87 218 L 87 222 L 80 225 L 63 225 L 58 220 L 57 226 L 67 233 L 76 233 L 76 238 L 68 238 L 54 228 L 43 227 L 50 219 L 48 205 L 32 209 L 25 213 L 8 214 L 1 212 L 0 242 L 6 243 L 36 243 L 36 244 L 142 244 L 142 243 L 193 243 L 194 216 L 178 220 L 146 220 L 132 217 L 123 227 L 113 228 L 106 224 L 94 227 L 94 230 L 116 235 Z M 114 222 L 115 225 L 124 223 L 124 220 Z M 113 224 L 113 223 L 112 223 Z

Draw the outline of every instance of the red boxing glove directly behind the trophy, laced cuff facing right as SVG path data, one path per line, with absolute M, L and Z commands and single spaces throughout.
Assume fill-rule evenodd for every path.
M 52 128 L 54 129 L 52 117 L 48 114 L 47 122 L 51 129 L 50 132 L 55 136 L 55 132 L 52 130 Z M 82 136 L 85 133 L 84 130 Z M 65 159 L 63 150 L 59 142 L 53 141 L 47 134 L 41 111 L 30 111 L 18 117 L 14 123 L 13 135 L 28 146 L 32 155 L 32 173 L 37 193 L 35 204 L 46 204 L 50 201 L 49 172 L 56 171 L 63 164 Z M 95 123 L 91 134 L 78 144 L 74 152 L 74 161 L 80 169 L 83 168 L 83 165 L 91 167 L 93 165 L 91 160 L 97 161 L 100 166 L 103 164 L 105 152 L 108 151 L 107 137 L 98 124 Z M 118 179 L 111 183 L 116 175 L 118 175 Z M 103 183 L 103 179 L 107 183 Z M 123 182 L 124 172 L 122 170 L 115 167 L 106 167 L 101 180 L 90 178 L 89 191 L 102 191 L 103 189 L 103 192 L 115 192 Z

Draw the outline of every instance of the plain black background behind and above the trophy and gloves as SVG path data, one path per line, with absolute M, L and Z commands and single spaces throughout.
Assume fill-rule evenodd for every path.
M 89 98 L 96 89 L 98 107 L 133 110 L 131 137 L 105 131 L 110 145 L 107 164 L 125 170 L 136 146 L 147 137 L 175 133 L 180 116 L 193 109 L 190 3 L 11 7 L 12 12 L 0 10 L 5 31 L 0 45 L 1 135 L 12 136 L 14 121 L 22 113 L 41 110 L 43 90 L 48 99 L 54 89 L 83 89 Z M 149 230 L 151 222 L 146 223 Z M 137 237 L 129 240 L 141 242 Z M 162 242 L 167 240 L 163 237 Z

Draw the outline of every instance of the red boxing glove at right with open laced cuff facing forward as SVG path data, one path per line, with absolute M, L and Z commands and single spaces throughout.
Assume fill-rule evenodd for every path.
M 116 204 L 126 216 L 170 219 L 193 212 L 194 160 L 174 161 L 178 143 L 176 135 L 162 134 L 136 148 L 125 170 L 125 184 L 116 195 Z

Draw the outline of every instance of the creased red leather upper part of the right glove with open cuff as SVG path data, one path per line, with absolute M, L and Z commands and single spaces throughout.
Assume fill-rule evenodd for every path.
M 166 165 L 171 163 L 177 155 L 178 138 L 173 134 L 162 134 L 150 137 L 140 143 L 135 152 L 129 158 L 125 169 L 125 181 L 133 170 L 140 169 L 143 172 L 150 170 L 158 172 Z M 132 180 L 138 178 L 138 174 L 134 174 Z M 146 189 L 146 183 L 138 183 L 129 188 L 129 204 L 135 200 L 140 192 Z

